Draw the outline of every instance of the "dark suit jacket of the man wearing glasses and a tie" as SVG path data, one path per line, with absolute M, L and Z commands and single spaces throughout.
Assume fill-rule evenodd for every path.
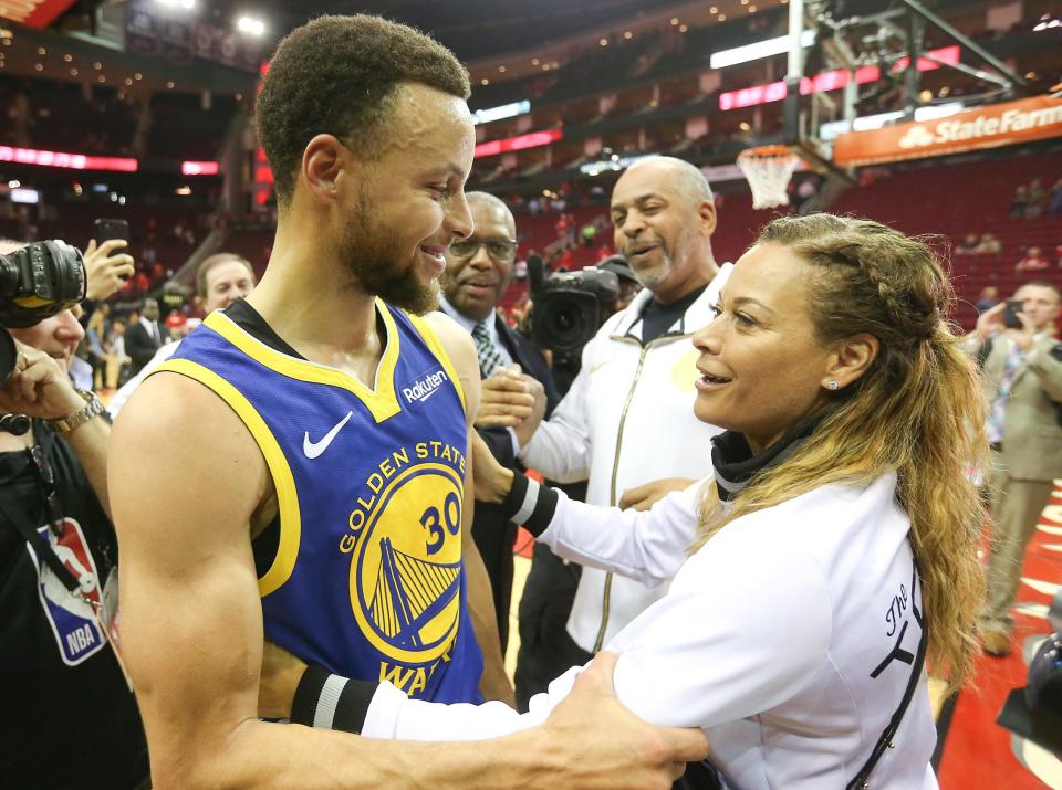
M 549 417 L 561 401 L 553 383 L 550 366 L 542 352 L 528 338 L 509 327 L 497 315 L 494 326 L 506 350 L 524 373 L 538 379 L 545 389 L 545 415 Z M 490 447 L 494 457 L 511 470 L 523 472 L 523 466 L 512 452 L 512 438 L 503 428 L 477 429 L 479 435 Z M 506 518 L 497 505 L 476 503 L 472 520 L 472 538 L 490 576 L 493 592 L 494 611 L 498 614 L 498 633 L 501 636 L 501 650 L 504 653 L 509 640 L 509 604 L 512 600 L 512 549 L 517 538 L 517 525 Z

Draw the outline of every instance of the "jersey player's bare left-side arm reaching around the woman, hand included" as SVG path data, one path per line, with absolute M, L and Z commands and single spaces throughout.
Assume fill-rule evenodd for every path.
M 144 383 L 113 442 L 121 647 L 159 790 L 663 790 L 676 761 L 706 750 L 699 734 L 614 720 L 618 706 L 602 694 L 490 744 L 382 742 L 259 721 L 262 619 L 248 523 L 270 483 L 258 447 L 228 407 L 174 373 Z M 163 468 L 180 485 L 162 482 Z M 595 710 L 608 724 L 576 742 L 579 717 Z

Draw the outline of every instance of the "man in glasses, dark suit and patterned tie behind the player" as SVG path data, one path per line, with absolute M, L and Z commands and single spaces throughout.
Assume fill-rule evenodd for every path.
M 522 418 L 531 415 L 537 400 L 544 403 L 548 414 L 560 396 L 539 349 L 513 331 L 496 312 L 509 287 L 517 256 L 512 212 L 487 192 L 470 192 L 466 197 L 472 215 L 472 234 L 454 241 L 446 253 L 439 306 L 472 336 L 485 391 L 500 388 L 502 379 L 514 380 L 513 386 L 523 389 L 522 393 L 508 391 L 508 396 L 517 401 L 512 403 L 512 414 L 494 413 L 493 408 L 485 402 L 476 419 L 476 429 L 494 457 L 522 471 L 516 457 L 520 447 L 513 428 Z M 537 398 L 539 393 L 544 400 Z M 477 502 L 472 537 L 490 576 L 498 632 L 504 651 L 509 636 L 512 548 L 517 526 L 502 516 L 496 505 Z

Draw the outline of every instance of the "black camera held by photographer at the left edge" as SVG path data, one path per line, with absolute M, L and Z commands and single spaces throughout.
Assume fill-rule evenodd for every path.
M 14 340 L 3 329 L 33 326 L 85 298 L 85 262 L 65 242 L 28 244 L 0 255 L 0 385 L 14 370 Z

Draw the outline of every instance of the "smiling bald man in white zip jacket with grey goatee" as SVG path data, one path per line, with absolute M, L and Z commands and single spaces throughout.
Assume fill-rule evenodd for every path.
M 638 161 L 616 182 L 611 213 L 616 250 L 645 287 L 586 344 L 579 376 L 553 415 L 523 420 L 516 432 L 524 465 L 561 483 L 587 480 L 587 503 L 648 507 L 711 473 L 709 439 L 718 429 L 693 415 L 696 351 L 689 338 L 711 320 L 730 265 L 716 265 L 711 189 L 689 162 Z M 531 572 L 529 584 L 537 583 Z M 665 590 L 584 569 L 568 621 L 579 650 L 521 653 L 518 675 L 535 678 L 531 693 L 543 691 Z

